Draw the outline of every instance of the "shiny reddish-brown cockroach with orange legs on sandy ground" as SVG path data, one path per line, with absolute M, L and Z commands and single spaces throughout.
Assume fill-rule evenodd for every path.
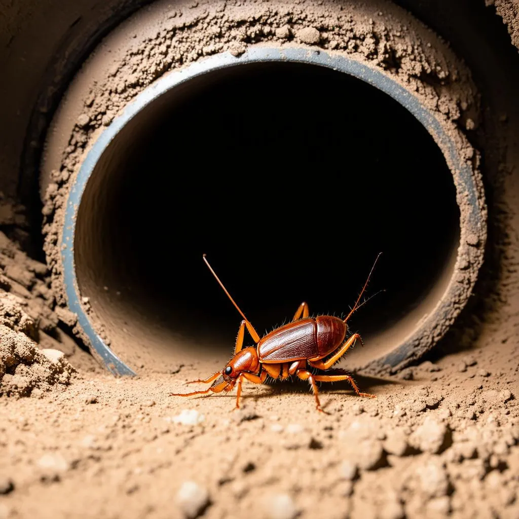
M 302 380 L 308 380 L 316 399 L 317 410 L 320 412 L 323 412 L 323 409 L 319 402 L 316 382 L 348 380 L 359 397 L 374 398 L 376 396 L 374 394 L 360 392 L 353 378 L 344 370 L 331 369 L 331 367 L 344 356 L 348 348 L 351 348 L 357 340 L 364 346 L 358 333 L 352 334 L 345 341 L 348 331 L 346 323 L 353 312 L 365 303 L 359 304 L 379 257 L 380 254 L 377 256 L 362 291 L 346 319 L 333 316 L 309 317 L 308 305 L 301 303 L 292 322 L 280 326 L 260 338 L 254 326 L 235 303 L 204 254 L 203 261 L 206 262 L 216 281 L 240 312 L 243 321 L 241 321 L 238 330 L 234 355 L 223 370 L 217 371 L 206 379 L 193 380 L 187 383 L 209 384 L 212 382 L 211 387 L 204 391 L 193 391 L 191 393 L 170 393 L 170 397 L 192 397 L 196 394 L 207 394 L 210 391 L 213 393 L 228 392 L 238 385 L 236 408 L 239 408 L 243 379 L 247 379 L 254 384 L 263 384 L 268 376 L 282 380 L 290 376 L 296 376 Z M 255 346 L 243 348 L 245 328 L 249 331 Z M 318 370 L 320 373 L 313 373 L 310 371 L 312 368 L 312 371 Z

